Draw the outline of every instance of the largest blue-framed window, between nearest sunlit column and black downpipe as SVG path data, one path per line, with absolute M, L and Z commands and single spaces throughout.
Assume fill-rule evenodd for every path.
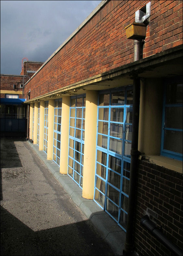
M 132 87 L 102 91 L 98 100 L 94 201 L 126 231 Z

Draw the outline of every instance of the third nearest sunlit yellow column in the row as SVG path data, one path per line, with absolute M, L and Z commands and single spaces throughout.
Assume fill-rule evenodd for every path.
M 49 100 L 48 104 L 48 150 L 47 159 L 53 160 L 53 128 L 54 128 L 55 100 Z

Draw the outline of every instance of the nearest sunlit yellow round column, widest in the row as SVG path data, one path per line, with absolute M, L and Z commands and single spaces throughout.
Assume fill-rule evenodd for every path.
M 85 146 L 84 146 L 82 196 L 87 199 L 93 199 L 93 195 L 94 195 L 96 133 L 97 133 L 97 103 L 98 103 L 98 92 L 86 91 Z

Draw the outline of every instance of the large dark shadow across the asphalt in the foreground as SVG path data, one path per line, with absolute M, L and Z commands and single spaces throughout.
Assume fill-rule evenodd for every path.
M 82 221 L 34 232 L 1 207 L 1 255 L 114 255 Z

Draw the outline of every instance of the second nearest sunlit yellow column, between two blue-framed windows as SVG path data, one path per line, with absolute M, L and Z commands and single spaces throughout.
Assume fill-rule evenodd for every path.
M 62 120 L 61 120 L 61 149 L 60 149 L 60 173 L 67 174 L 68 149 L 69 149 L 69 111 L 70 97 L 62 98 Z

